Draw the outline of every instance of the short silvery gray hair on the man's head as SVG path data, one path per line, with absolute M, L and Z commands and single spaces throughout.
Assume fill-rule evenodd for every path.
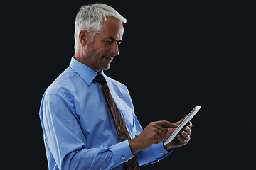
M 122 24 L 127 22 L 127 20 L 111 6 L 105 4 L 81 6 L 80 11 L 75 17 L 75 50 L 80 46 L 80 31 L 86 30 L 90 34 L 93 42 L 94 36 L 102 30 L 103 19 L 107 21 L 107 16 L 117 18 Z

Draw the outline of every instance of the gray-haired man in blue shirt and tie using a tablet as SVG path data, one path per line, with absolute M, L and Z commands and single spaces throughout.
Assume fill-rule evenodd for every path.
M 177 123 L 139 125 L 126 86 L 107 77 L 126 23 L 105 4 L 82 6 L 75 20 L 75 56 L 41 102 L 49 169 L 139 169 L 190 140 L 191 122 L 168 145 Z

